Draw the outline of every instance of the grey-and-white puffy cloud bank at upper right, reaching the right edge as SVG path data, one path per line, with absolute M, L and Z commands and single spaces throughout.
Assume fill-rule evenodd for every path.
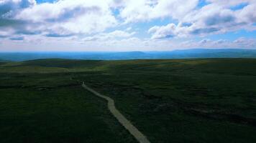
M 239 29 L 255 30 L 256 22 L 256 1 L 219 1 L 211 0 L 210 4 L 201 9 L 194 9 L 186 14 L 178 24 L 155 27 L 152 39 L 169 38 L 175 36 L 206 36 L 209 34 L 221 34 L 227 31 Z M 247 2 L 242 9 L 232 10 L 230 7 Z M 156 29 L 157 28 L 157 29 Z

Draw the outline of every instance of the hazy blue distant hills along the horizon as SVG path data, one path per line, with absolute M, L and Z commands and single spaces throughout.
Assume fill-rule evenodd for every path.
M 186 49 L 175 51 L 127 52 L 0 52 L 0 61 L 32 59 L 197 59 L 197 58 L 256 58 L 255 49 Z

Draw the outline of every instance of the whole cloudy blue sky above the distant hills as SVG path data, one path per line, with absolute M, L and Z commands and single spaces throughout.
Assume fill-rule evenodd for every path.
M 0 51 L 256 49 L 256 0 L 0 0 Z

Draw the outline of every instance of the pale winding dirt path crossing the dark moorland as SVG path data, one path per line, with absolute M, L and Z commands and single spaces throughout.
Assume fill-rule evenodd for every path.
M 137 139 L 138 142 L 140 143 L 150 143 L 149 140 L 147 140 L 147 137 L 145 137 L 144 134 L 142 134 L 142 132 L 140 132 L 136 127 L 134 127 L 134 125 L 132 125 L 131 122 L 129 122 L 128 119 L 126 119 L 114 106 L 114 100 L 106 97 L 102 94 L 99 94 L 98 92 L 96 92 L 95 90 L 89 88 L 86 86 L 86 84 L 82 84 L 82 87 L 87 89 L 88 91 L 92 92 L 93 94 L 95 94 L 98 97 L 101 97 L 103 99 L 106 99 L 108 101 L 108 107 L 110 112 L 114 115 L 114 117 L 116 117 L 116 119 L 135 137 L 135 139 Z

